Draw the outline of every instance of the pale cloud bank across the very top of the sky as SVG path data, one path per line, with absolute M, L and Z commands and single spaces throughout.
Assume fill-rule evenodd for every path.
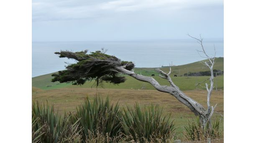
M 189 7 L 223 4 L 222 0 L 33 0 L 32 20 L 73 20 L 108 17 L 141 10 L 167 9 L 177 12 Z

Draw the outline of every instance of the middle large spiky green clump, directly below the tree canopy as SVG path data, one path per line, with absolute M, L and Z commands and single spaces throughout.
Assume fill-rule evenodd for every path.
M 96 96 L 91 102 L 87 97 L 73 114 L 73 122 L 79 120 L 79 128 L 85 140 L 89 135 L 100 133 L 109 137 L 118 136 L 122 132 L 122 112 L 119 104 L 111 104 L 109 97 L 103 101 Z

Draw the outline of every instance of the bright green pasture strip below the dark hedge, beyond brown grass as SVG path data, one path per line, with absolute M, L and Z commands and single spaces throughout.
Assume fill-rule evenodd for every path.
M 142 74 L 143 75 L 143 74 Z M 48 89 L 59 89 L 59 88 L 65 88 L 65 87 L 76 87 L 76 88 L 95 88 L 94 81 L 87 82 L 84 85 L 76 86 L 72 85 L 71 83 L 62 83 L 59 84 L 58 82 L 51 82 L 51 74 L 48 74 L 48 76 L 45 76 L 46 78 L 43 79 L 44 82 L 40 83 L 38 81 L 32 80 L 32 86 L 48 90 Z M 131 76 L 126 77 L 127 80 L 124 83 L 114 85 L 110 83 L 104 83 L 103 87 L 98 88 L 106 88 L 106 89 L 154 89 L 154 87 L 151 84 L 148 84 L 143 81 L 138 81 L 134 79 Z M 200 84 L 196 87 L 196 85 L 205 79 L 209 78 L 209 76 L 179 76 L 179 77 L 173 77 L 172 81 L 174 84 L 176 84 L 181 90 L 194 90 L 194 89 L 204 89 L 202 86 L 205 86 L 205 82 Z M 165 79 L 161 79 L 158 75 L 154 76 L 154 79 L 159 81 L 161 85 L 169 85 L 169 82 Z M 224 76 L 217 76 L 214 78 L 215 80 L 215 87 L 217 84 L 217 89 L 224 89 Z M 209 83 L 209 82 L 207 82 Z M 48 87 L 47 87 L 48 86 Z

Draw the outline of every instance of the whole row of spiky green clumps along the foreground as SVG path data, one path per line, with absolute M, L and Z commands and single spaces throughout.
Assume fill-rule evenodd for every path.
M 198 126 L 189 123 L 187 139 L 199 140 L 191 138 Z M 93 100 L 87 97 L 76 111 L 61 116 L 48 102 L 32 104 L 33 143 L 172 143 L 180 136 L 175 128 L 173 117 L 159 105 L 142 108 L 135 104 L 134 108 L 128 105 L 121 108 L 118 103 L 111 103 L 109 97 L 105 100 L 100 96 Z M 219 137 L 220 122 L 212 128 L 205 130 L 207 135 Z M 202 133 L 198 136 L 204 136 Z

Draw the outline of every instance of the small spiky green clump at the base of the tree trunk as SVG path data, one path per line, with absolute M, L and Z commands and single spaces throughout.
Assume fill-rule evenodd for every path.
M 220 120 L 216 120 L 210 127 L 209 123 L 206 124 L 205 128 L 201 127 L 199 118 L 197 122 L 189 121 L 189 125 L 185 127 L 185 134 L 187 138 L 192 141 L 202 141 L 206 138 L 218 138 L 221 135 L 220 132 Z

